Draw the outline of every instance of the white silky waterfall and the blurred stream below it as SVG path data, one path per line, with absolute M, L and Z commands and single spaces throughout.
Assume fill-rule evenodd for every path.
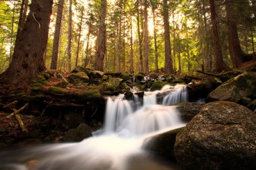
M 108 97 L 104 128 L 95 133 L 96 136 L 79 143 L 50 144 L 1 153 L 0 169 L 171 170 L 169 165 L 159 163 L 141 149 L 143 140 L 151 134 L 185 126 L 177 110 L 156 104 L 159 93 L 167 94 L 162 100 L 165 105 L 187 99 L 185 85 L 145 92 L 142 102 L 137 95 L 133 95 L 131 101 L 124 99 L 124 95 Z

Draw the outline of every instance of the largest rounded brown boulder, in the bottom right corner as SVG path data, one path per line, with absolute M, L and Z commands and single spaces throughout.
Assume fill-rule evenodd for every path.
M 207 103 L 177 135 L 174 155 L 183 169 L 255 169 L 256 114 L 230 101 Z

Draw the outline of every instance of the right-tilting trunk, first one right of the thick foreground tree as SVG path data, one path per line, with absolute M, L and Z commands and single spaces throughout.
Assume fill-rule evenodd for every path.
M 64 0 L 59 0 L 56 24 L 55 24 L 55 34 L 53 38 L 53 53 L 52 53 L 52 61 L 51 61 L 51 69 L 57 69 L 57 60 L 59 53 L 59 38 L 61 35 L 61 21 L 63 14 L 63 4 Z

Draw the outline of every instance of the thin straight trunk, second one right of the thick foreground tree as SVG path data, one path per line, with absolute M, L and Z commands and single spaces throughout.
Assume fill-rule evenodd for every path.
M 69 0 L 69 32 L 67 37 L 67 72 L 71 72 L 72 1 Z

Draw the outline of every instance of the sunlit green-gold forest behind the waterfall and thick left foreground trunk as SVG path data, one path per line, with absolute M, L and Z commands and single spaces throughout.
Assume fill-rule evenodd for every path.
M 15 54 L 29 3 L 0 3 L 1 72 Z M 70 72 L 79 65 L 146 75 L 198 68 L 221 72 L 241 67 L 255 52 L 254 1 L 63 0 L 49 4 L 49 10 L 52 5 L 40 56 L 47 69 Z

